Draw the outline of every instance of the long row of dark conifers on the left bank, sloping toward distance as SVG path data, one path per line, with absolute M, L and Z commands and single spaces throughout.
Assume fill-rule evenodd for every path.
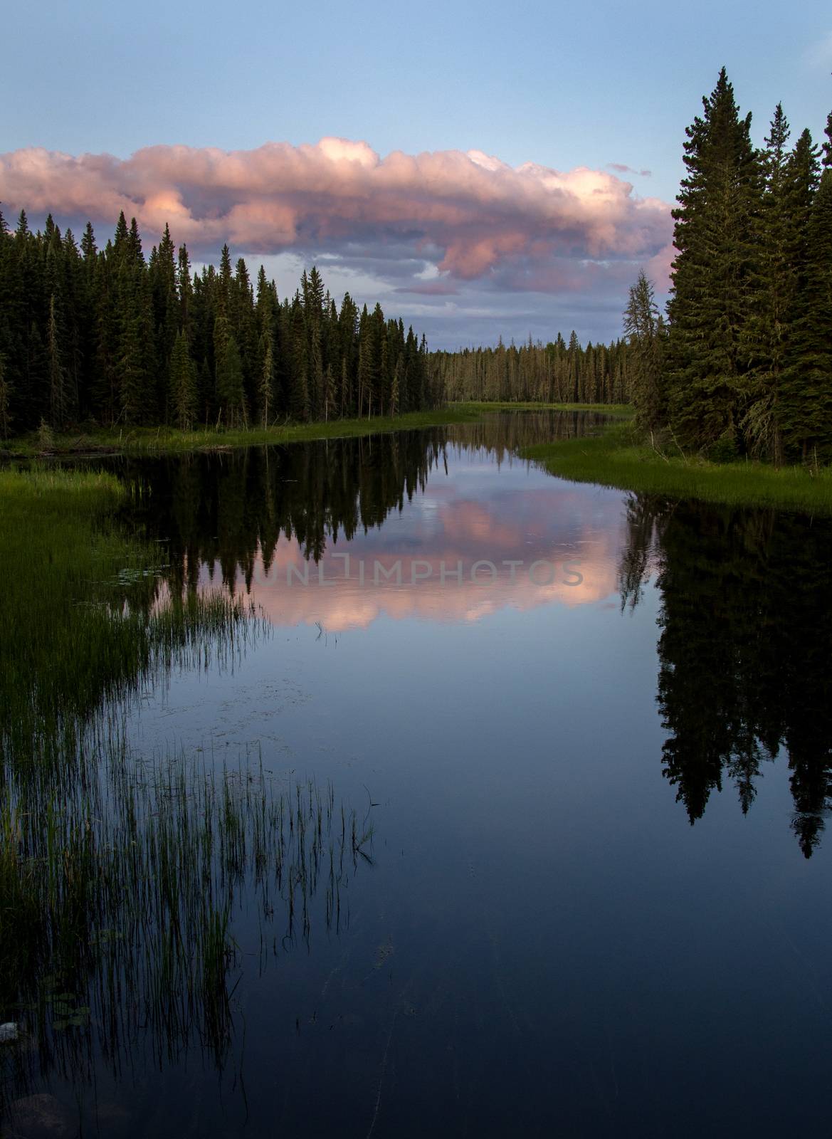
M 150 255 L 122 213 L 113 239 L 81 243 L 51 215 L 11 232 L 0 213 L 0 436 L 106 426 L 267 426 L 434 407 L 427 343 L 315 268 L 278 297 L 261 265 L 193 272 L 168 227 Z

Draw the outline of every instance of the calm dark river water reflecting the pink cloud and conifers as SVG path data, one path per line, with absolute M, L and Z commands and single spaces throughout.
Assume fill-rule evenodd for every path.
M 832 527 L 516 456 L 587 427 L 118 465 L 170 588 L 271 624 L 149 687 L 133 753 L 256 756 L 373 834 L 335 917 L 240 891 L 221 1043 L 93 1023 L 26 1093 L 178 1139 L 825 1129 Z

